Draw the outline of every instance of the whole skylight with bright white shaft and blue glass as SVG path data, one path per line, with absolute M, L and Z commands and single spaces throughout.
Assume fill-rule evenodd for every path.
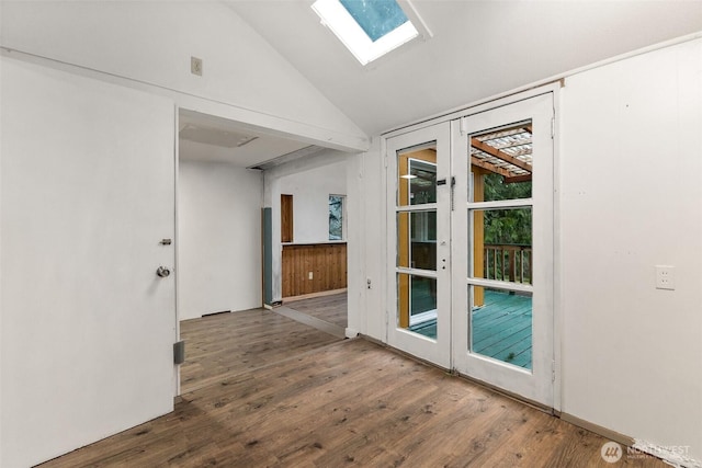
M 396 0 L 317 0 L 312 8 L 361 65 L 419 35 Z

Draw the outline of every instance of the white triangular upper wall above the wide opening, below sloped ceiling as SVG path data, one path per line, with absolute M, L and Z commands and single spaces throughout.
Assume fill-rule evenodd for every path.
M 367 147 L 353 122 L 219 2 L 4 1 L 1 21 L 3 47 L 171 90 L 185 109 L 282 136 Z M 203 60 L 202 77 L 190 72 L 191 56 Z

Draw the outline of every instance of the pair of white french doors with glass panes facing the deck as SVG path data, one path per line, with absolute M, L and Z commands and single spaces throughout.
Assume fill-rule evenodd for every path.
M 388 344 L 553 406 L 553 95 L 387 140 Z

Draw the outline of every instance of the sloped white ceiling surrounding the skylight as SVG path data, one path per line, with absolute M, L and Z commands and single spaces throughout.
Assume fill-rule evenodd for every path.
M 362 67 L 313 0 L 224 0 L 369 135 L 702 30 L 700 0 L 415 0 L 433 33 Z

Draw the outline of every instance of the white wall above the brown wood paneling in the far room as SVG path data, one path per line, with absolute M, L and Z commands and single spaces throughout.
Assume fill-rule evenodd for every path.
M 280 191 L 293 195 L 293 243 L 329 242 L 329 195 L 347 194 L 347 162 L 281 178 Z

